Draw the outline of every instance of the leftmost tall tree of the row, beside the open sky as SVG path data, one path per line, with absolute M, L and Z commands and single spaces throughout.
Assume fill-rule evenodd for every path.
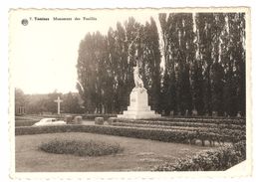
M 102 112 L 104 107 L 104 81 L 108 62 L 107 40 L 99 32 L 87 34 L 81 41 L 78 58 L 77 89 L 84 99 L 84 106 L 89 112 Z

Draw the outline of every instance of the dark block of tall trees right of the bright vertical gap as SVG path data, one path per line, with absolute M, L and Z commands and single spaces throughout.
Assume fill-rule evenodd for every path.
M 165 112 L 244 115 L 245 14 L 160 14 L 159 22 Z

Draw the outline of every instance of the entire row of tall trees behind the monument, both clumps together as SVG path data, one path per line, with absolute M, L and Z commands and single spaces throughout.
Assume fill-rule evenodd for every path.
M 77 88 L 86 110 L 126 109 L 137 59 L 157 112 L 245 115 L 245 14 L 170 13 L 158 21 L 160 30 L 152 18 L 129 18 L 81 41 Z

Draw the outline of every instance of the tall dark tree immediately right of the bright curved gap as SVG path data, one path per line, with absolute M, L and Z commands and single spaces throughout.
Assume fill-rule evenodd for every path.
M 165 14 L 159 14 L 159 22 L 164 44 L 165 69 L 169 76 L 174 76 L 172 82 L 175 83 L 172 90 L 169 90 L 175 93 L 168 94 L 169 99 L 176 99 L 175 112 L 184 114 L 186 110 L 192 109 L 189 75 L 190 63 L 194 60 L 192 14 L 171 13 L 167 20 Z

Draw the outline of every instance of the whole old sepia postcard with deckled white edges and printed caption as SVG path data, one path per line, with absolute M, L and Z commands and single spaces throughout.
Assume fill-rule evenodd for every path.
M 246 7 L 10 10 L 12 175 L 251 174 L 249 30 Z

